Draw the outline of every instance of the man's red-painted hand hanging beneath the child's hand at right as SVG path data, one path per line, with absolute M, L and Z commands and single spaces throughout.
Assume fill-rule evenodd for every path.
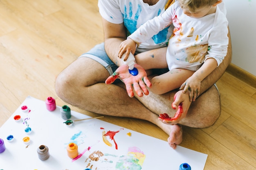
M 184 94 L 183 91 L 180 90 L 174 95 L 174 101 L 172 103 L 173 109 L 177 110 L 175 115 L 171 118 L 166 113 L 160 114 L 158 119 L 168 125 L 177 124 L 186 117 L 190 104 L 189 93 Z

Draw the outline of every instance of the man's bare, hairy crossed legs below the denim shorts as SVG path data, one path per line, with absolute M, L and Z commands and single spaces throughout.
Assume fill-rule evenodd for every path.
M 175 110 L 172 109 L 171 103 L 175 92 L 162 95 L 150 93 L 141 98 L 130 98 L 123 83 L 106 85 L 104 82 L 108 76 L 107 70 L 98 62 L 82 57 L 75 60 L 57 77 L 56 93 L 66 103 L 84 110 L 150 121 L 170 135 L 168 142 L 171 147 L 175 148 L 181 143 L 180 126 L 165 125 L 158 120 L 161 113 L 174 115 Z M 211 87 L 191 104 L 186 118 L 180 122 L 182 125 L 204 128 L 218 119 L 220 101 L 214 88 Z

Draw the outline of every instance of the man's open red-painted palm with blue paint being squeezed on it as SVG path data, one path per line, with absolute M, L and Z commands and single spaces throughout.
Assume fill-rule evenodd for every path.
M 135 64 L 134 67 L 138 69 L 139 74 L 137 76 L 132 76 L 132 74 L 129 73 L 129 67 L 127 65 L 121 65 L 111 76 L 106 79 L 105 83 L 107 85 L 111 84 L 117 78 L 119 78 L 126 85 L 128 96 L 134 96 L 132 87 L 139 97 L 142 97 L 143 93 L 148 95 L 149 92 L 146 86 L 150 88 L 152 84 L 147 77 L 146 71 L 138 64 Z

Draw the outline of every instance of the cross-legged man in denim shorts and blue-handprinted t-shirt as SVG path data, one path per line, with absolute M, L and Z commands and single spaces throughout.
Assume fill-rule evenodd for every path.
M 150 121 L 169 135 L 168 143 L 175 149 L 182 142 L 181 125 L 205 128 L 212 125 L 220 115 L 220 97 L 213 84 L 218 81 L 231 62 L 230 35 L 228 35 L 227 56 L 220 66 L 202 81 L 201 95 L 196 101 L 190 101 L 189 93 L 184 94 L 182 91 L 171 91 L 157 95 L 148 89 L 148 94 L 146 85 L 139 80 L 132 80 L 130 84 L 117 82 L 106 85 L 104 83 L 113 72 L 115 75 L 128 76 L 129 73 L 122 73 L 121 68 L 123 67 L 119 67 L 124 65 L 123 61 L 118 58 L 120 43 L 126 40 L 128 34 L 135 31 L 146 20 L 161 14 L 166 3 L 170 4 L 171 1 L 99 0 L 99 11 L 102 16 L 104 31 L 104 47 L 103 44 L 97 45 L 64 69 L 56 79 L 56 93 L 63 101 L 84 110 Z M 161 57 L 166 56 L 166 45 L 172 34 L 172 28 L 166 28 L 164 31 L 137 47 L 135 58 L 138 65 L 143 66 L 143 63 L 140 63 L 140 57 L 157 56 L 158 59 L 161 59 Z M 139 66 L 135 67 L 140 68 Z M 141 70 L 143 69 L 139 69 L 139 73 L 142 72 Z M 150 80 L 153 74 L 161 74 L 161 72 L 155 72 L 154 69 L 147 70 L 147 74 Z M 135 77 L 128 76 L 128 79 L 135 79 Z M 125 82 L 124 79 L 122 81 Z M 128 96 L 126 87 L 136 88 L 134 97 L 132 97 L 133 95 Z M 175 101 L 173 101 L 174 95 Z M 180 119 L 172 121 L 171 125 L 158 120 L 159 114 L 162 113 L 173 116 L 175 110 L 172 107 L 177 110 L 180 103 L 183 107 L 183 114 Z

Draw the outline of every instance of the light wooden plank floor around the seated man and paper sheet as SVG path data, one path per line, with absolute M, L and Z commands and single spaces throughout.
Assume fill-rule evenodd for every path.
M 57 105 L 66 104 L 56 96 L 54 81 L 73 60 L 103 41 L 97 2 L 0 0 L 0 126 L 27 96 L 52 96 Z M 228 73 L 217 85 L 220 118 L 210 128 L 184 127 L 181 146 L 208 154 L 205 170 L 254 170 L 256 89 Z M 111 116 L 102 120 L 162 140 L 168 137 L 146 121 Z

